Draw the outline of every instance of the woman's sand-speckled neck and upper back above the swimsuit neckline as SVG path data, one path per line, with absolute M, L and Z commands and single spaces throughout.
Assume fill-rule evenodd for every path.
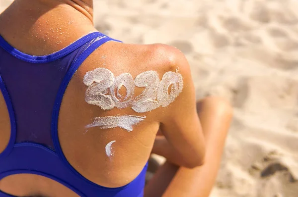
M 92 0 L 15 0 L 0 14 L 0 35 L 22 52 L 50 54 L 95 32 L 92 15 Z

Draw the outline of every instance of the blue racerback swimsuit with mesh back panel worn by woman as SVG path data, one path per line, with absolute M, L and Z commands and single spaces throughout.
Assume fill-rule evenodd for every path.
M 9 143 L 0 153 L 0 180 L 13 174 L 36 174 L 80 197 L 143 197 L 147 165 L 126 186 L 102 187 L 71 166 L 58 139 L 59 109 L 70 80 L 81 63 L 109 41 L 117 40 L 95 32 L 51 55 L 31 56 L 0 36 L 0 89 L 11 123 Z M 0 197 L 12 196 L 0 191 Z

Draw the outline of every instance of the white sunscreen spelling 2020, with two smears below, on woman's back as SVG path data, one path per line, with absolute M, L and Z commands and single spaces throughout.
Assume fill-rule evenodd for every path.
M 156 71 L 146 71 L 139 74 L 135 80 L 129 73 L 123 73 L 115 78 L 114 74 L 106 68 L 96 68 L 84 76 L 83 82 L 88 86 L 85 101 L 97 105 L 103 110 L 114 107 L 131 107 L 138 113 L 145 113 L 159 106 L 166 107 L 173 102 L 183 89 L 183 78 L 178 71 L 166 72 L 160 81 Z M 122 87 L 126 88 L 126 95 L 120 94 Z M 135 87 L 145 88 L 141 95 L 134 97 Z M 170 91 L 169 91 L 170 88 Z M 133 126 L 142 122 L 146 116 L 121 115 L 94 118 L 86 128 L 99 129 L 122 128 L 133 131 Z M 108 143 L 105 151 L 108 157 L 113 155 L 112 144 Z

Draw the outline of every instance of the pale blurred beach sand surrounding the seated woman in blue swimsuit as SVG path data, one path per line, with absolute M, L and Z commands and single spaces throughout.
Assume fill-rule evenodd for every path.
M 297 0 L 95 0 L 99 31 L 181 49 L 197 98 L 233 104 L 211 197 L 298 196 L 297 10 Z

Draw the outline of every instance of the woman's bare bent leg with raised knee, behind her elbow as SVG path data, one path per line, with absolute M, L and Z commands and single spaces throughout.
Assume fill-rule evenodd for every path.
M 188 169 L 166 162 L 145 188 L 145 197 L 208 197 L 216 181 L 224 142 L 232 118 L 231 106 L 221 98 L 197 103 L 206 140 L 205 163 Z

